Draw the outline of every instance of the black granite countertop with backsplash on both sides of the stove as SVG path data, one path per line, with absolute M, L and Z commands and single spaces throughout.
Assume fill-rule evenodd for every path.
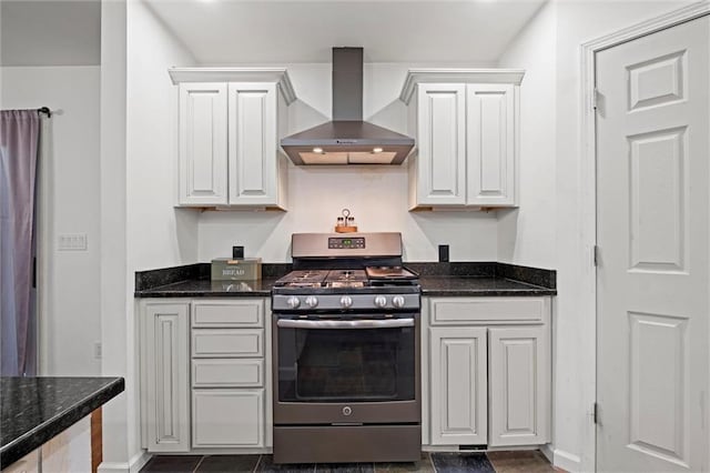
M 554 270 L 499 262 L 410 262 L 419 274 L 423 295 L 556 295 Z M 195 263 L 135 273 L 136 298 L 267 298 L 288 263 L 265 263 L 260 281 L 211 281 L 210 264 Z

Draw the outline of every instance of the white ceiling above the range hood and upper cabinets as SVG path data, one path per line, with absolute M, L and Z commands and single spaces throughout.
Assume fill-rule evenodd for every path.
M 546 0 L 146 0 L 200 64 L 331 62 L 334 46 L 366 62 L 495 63 Z

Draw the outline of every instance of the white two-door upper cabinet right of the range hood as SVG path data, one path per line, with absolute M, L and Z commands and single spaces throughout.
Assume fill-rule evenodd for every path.
M 409 208 L 515 207 L 518 101 L 524 71 L 420 69 L 399 98 L 409 107 Z

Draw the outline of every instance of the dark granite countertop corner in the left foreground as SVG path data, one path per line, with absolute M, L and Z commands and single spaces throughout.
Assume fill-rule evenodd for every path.
M 41 446 L 124 389 L 123 378 L 0 378 L 0 467 Z

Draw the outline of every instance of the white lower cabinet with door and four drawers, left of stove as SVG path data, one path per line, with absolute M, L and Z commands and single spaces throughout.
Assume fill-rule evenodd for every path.
M 258 298 L 141 301 L 143 447 L 271 446 L 268 310 Z

